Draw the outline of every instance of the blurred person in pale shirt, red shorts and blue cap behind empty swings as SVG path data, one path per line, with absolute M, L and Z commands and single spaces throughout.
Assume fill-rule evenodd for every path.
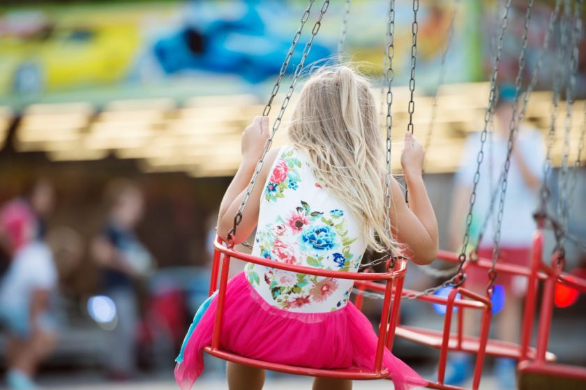
M 488 216 L 488 209 L 490 209 L 493 192 L 495 189 L 500 191 L 498 181 L 506 159 L 515 97 L 515 87 L 509 84 L 500 87 L 495 107 L 495 131 L 493 135 L 488 137 L 484 147 L 485 163 L 481 165 L 480 181 L 476 189 L 476 204 L 474 206 L 476 213 L 473 230 L 478 230 L 484 222 L 483 218 L 490 218 L 486 232 L 483 233 L 479 243 L 479 256 L 488 259 L 493 256 L 493 237 L 500 195 L 497 195 L 490 216 Z M 521 124 L 516 137 L 506 188 L 499 262 L 528 266 L 532 234 L 536 227 L 533 213 L 538 206 L 545 153 L 541 134 L 534 128 Z M 480 145 L 479 133 L 468 137 L 460 170 L 456 173 L 456 190 L 453 193 L 451 208 L 453 215 L 450 227 L 450 241 L 453 250 L 460 250 L 462 243 L 463 223 L 469 208 L 469 197 L 472 193 L 474 172 L 476 171 L 476 156 Z M 495 315 L 497 337 L 501 340 L 518 343 L 527 281 L 523 276 L 499 274 L 495 284 L 502 285 L 505 291 L 504 308 L 502 312 Z M 466 287 L 482 293 L 486 290 L 487 285 L 488 270 L 477 267 L 468 268 Z M 472 329 L 475 323 L 477 324 L 474 322 L 474 317 L 471 317 L 474 313 L 470 313 L 470 311 L 466 311 L 465 318 L 465 327 L 468 330 Z M 446 384 L 461 384 L 472 376 L 472 357 L 468 354 L 451 354 L 450 356 L 451 359 L 446 371 Z M 516 361 L 504 358 L 497 359 L 495 361 L 495 375 L 499 380 L 500 388 L 516 388 Z

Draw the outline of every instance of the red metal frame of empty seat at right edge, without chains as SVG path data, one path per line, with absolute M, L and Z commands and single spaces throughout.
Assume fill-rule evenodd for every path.
M 550 363 L 547 359 L 547 346 L 550 334 L 550 326 L 553 315 L 553 301 L 555 284 L 563 283 L 573 287 L 579 292 L 586 293 L 586 280 L 576 276 L 569 276 L 562 272 L 558 262 L 559 253 L 552 256 L 551 267 L 541 262 L 543 254 L 543 230 L 541 226 L 534 234 L 533 257 L 531 264 L 531 275 L 527 290 L 527 301 L 532 300 L 532 305 L 525 306 L 523 317 L 523 330 L 521 333 L 521 355 L 522 359 L 518 364 L 518 371 L 522 375 L 536 374 L 553 377 L 564 377 L 571 380 L 583 381 L 586 384 L 586 367 L 568 366 L 558 363 Z M 543 292 L 541 297 L 541 310 L 537 328 L 537 349 L 536 354 L 529 354 L 529 340 L 533 335 L 533 322 L 536 309 L 536 295 L 539 280 L 543 280 L 539 274 L 545 274 Z

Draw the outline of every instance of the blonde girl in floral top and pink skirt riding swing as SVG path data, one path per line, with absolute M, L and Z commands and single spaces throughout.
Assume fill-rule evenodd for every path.
M 384 150 L 373 93 L 350 68 L 322 70 L 301 92 L 289 128 L 290 146 L 269 152 L 235 242 L 257 233 L 253 255 L 277 262 L 353 271 L 367 247 L 428 264 L 437 253 L 437 222 L 421 179 L 423 149 L 410 133 L 401 156 L 410 208 L 393 179 L 392 234 L 385 229 Z M 242 137 L 242 162 L 220 205 L 226 239 L 269 137 L 256 117 Z M 378 239 L 376 239 L 377 237 Z M 230 280 L 220 345 L 236 354 L 312 368 L 374 367 L 377 335 L 349 301 L 352 281 L 248 264 Z M 196 315 L 177 358 L 176 380 L 190 389 L 211 344 L 212 297 Z M 384 366 L 396 389 L 426 382 L 390 351 Z M 264 371 L 228 363 L 231 390 L 262 389 Z M 313 389 L 351 389 L 350 380 L 316 377 Z

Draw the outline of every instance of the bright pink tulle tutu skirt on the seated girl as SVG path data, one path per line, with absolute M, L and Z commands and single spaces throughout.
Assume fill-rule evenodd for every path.
M 188 333 L 178 358 L 175 379 L 189 390 L 204 369 L 202 348 L 211 345 L 217 299 L 214 297 L 199 322 Z M 373 370 L 377 334 L 352 303 L 329 313 L 294 313 L 266 303 L 244 273 L 227 285 L 220 349 L 251 359 L 310 368 Z M 423 386 L 412 368 L 384 351 L 384 367 L 396 390 Z

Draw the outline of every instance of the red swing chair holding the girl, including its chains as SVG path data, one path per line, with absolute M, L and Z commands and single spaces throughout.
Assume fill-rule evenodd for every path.
M 292 41 L 292 45 L 290 47 L 290 51 L 283 62 L 283 66 L 280 70 L 280 75 L 278 76 L 277 82 L 273 87 L 273 91 L 271 93 L 271 97 L 269 98 L 269 103 L 266 105 L 263 115 L 269 114 L 271 110 L 271 104 L 273 99 L 275 98 L 276 94 L 278 93 L 280 82 L 283 80 L 283 76 L 287 70 L 288 63 L 292 57 L 292 54 L 295 50 L 297 43 L 299 42 L 299 38 L 301 37 L 301 32 L 303 30 L 306 21 L 310 15 L 310 10 L 315 3 L 315 0 L 310 0 L 308 3 L 308 7 L 306 11 L 303 13 L 303 17 L 301 18 L 301 25 L 299 29 L 296 31 L 294 39 Z M 308 43 L 306 43 L 305 47 L 303 48 L 303 54 L 301 56 L 301 61 L 296 66 L 292 82 L 290 84 L 290 88 L 286 93 L 285 100 L 283 101 L 283 105 L 281 106 L 280 112 L 276 121 L 273 123 L 273 128 L 271 132 L 271 136 L 269 140 L 267 140 L 262 158 L 260 159 L 257 167 L 255 169 L 255 173 L 253 174 L 253 178 L 250 181 L 248 186 L 246 196 L 243 198 L 243 202 L 239 208 L 238 213 L 234 217 L 234 226 L 232 230 L 228 233 L 228 242 L 221 241 L 218 237 L 216 237 L 216 241 L 214 242 L 214 255 L 213 255 L 213 265 L 211 271 L 211 282 L 210 282 L 210 290 L 209 294 L 213 294 L 218 291 L 218 306 L 216 309 L 216 318 L 213 327 L 213 335 L 211 340 L 211 345 L 208 347 L 204 347 L 204 352 L 211 354 L 214 357 L 218 357 L 220 359 L 224 359 L 227 361 L 232 361 L 234 363 L 241 363 L 246 364 L 248 366 L 253 366 L 257 368 L 264 368 L 268 370 L 276 370 L 283 373 L 291 373 L 297 375 L 310 375 L 310 376 L 317 376 L 317 377 L 336 377 L 340 379 L 347 379 L 347 380 L 375 380 L 375 379 L 382 379 L 382 378 L 389 378 L 391 373 L 389 370 L 382 367 L 382 359 L 384 348 L 386 343 L 388 342 L 389 338 L 389 329 L 394 328 L 394 324 L 398 322 L 398 315 L 399 315 L 399 304 L 402 289 L 403 289 L 403 279 L 405 278 L 405 273 L 407 271 L 407 259 L 404 257 L 395 257 L 389 256 L 387 259 L 384 260 L 386 271 L 382 273 L 359 273 L 359 272 L 340 272 L 340 271 L 331 271 L 325 269 L 317 269 L 313 267 L 303 267 L 295 264 L 285 264 L 281 262 L 274 262 L 271 260 L 266 260 L 262 257 L 257 257 L 253 255 L 248 255 L 246 253 L 241 253 L 239 251 L 234 250 L 234 241 L 233 237 L 236 237 L 236 228 L 239 225 L 242 219 L 242 211 L 244 207 L 246 207 L 246 202 L 248 201 L 248 197 L 250 192 L 255 185 L 255 180 L 260 172 L 262 164 L 264 162 L 264 156 L 266 156 L 266 152 L 271 147 L 273 136 L 278 130 L 280 126 L 280 122 L 283 118 L 283 114 L 287 105 L 290 101 L 292 93 L 294 91 L 294 87 L 296 85 L 299 76 L 301 75 L 301 70 L 303 70 L 303 64 L 308 56 L 313 40 L 317 35 L 317 32 L 320 30 L 322 17 L 326 13 L 327 8 L 329 7 L 329 0 L 324 0 L 322 4 L 322 8 L 320 10 L 320 15 L 315 22 L 313 29 L 311 31 L 310 39 Z M 344 39 L 345 39 L 345 31 L 347 28 L 347 19 L 350 11 L 350 0 L 347 0 L 346 8 L 345 8 L 345 18 L 343 23 L 343 33 L 342 38 L 340 38 L 340 43 L 338 45 L 338 53 L 342 52 Z M 390 110 L 390 109 L 389 109 Z M 387 134 L 387 168 L 388 168 L 388 175 L 387 179 L 390 178 L 390 167 L 391 167 L 391 160 L 390 160 L 390 147 L 391 147 L 391 135 L 390 135 L 390 127 L 388 129 Z M 389 193 L 390 188 L 390 181 L 387 180 L 386 183 L 387 193 Z M 389 213 L 390 207 L 390 199 L 387 199 L 386 202 L 386 211 L 387 214 Z M 389 225 L 390 226 L 390 225 Z M 358 280 L 362 282 L 370 281 L 380 281 L 384 283 L 384 299 L 383 299 L 383 309 L 381 314 L 380 320 L 380 327 L 379 327 L 379 338 L 377 343 L 377 349 L 375 352 L 375 363 L 373 369 L 370 371 L 365 370 L 352 370 L 352 369 L 333 369 L 333 370 L 326 370 L 326 369 L 315 369 L 315 368 L 308 368 L 308 367 L 298 367 L 298 366 L 288 366 L 285 364 L 279 363 L 271 363 L 268 361 L 260 361 L 257 359 L 250 359 L 247 357 L 242 357 L 237 354 L 227 352 L 225 350 L 220 349 L 220 331 L 222 328 L 223 322 L 223 310 L 224 310 L 224 303 L 225 303 L 225 292 L 227 287 L 227 278 L 228 278 L 228 271 L 230 269 L 230 260 L 231 259 L 238 259 L 243 260 L 245 262 L 252 262 L 254 264 L 264 265 L 266 267 L 272 267 L 276 269 L 281 269 L 284 271 L 292 271 L 296 273 L 306 273 L 315 276 L 322 276 L 322 277 L 330 277 L 330 278 L 342 278 L 342 279 L 350 279 L 350 280 Z M 220 278 L 219 286 L 218 286 L 218 276 Z M 378 284 L 377 284 L 378 285 Z M 364 287 L 366 288 L 366 287 Z M 389 378 L 390 379 L 390 378 Z

